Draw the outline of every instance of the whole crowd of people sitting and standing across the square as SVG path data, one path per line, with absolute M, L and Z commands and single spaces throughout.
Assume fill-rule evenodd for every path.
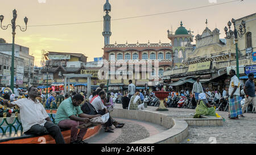
M 171 97 L 175 98 L 177 95 L 193 95 L 197 102 L 196 115 L 213 115 L 216 116 L 214 104 L 210 104 L 208 99 L 212 98 L 215 103 L 218 103 L 221 97 L 229 97 L 229 118 L 238 119 L 238 115 L 242 118 L 245 108 L 250 102 L 256 106 L 255 101 L 255 85 L 254 74 L 248 75 L 248 80 L 245 83 L 243 89 L 240 89 L 240 81 L 236 76 L 236 72 L 232 69 L 229 72 L 230 85 L 228 94 L 225 89 L 222 90 L 222 94 L 219 90 L 214 92 L 209 91 L 208 88 L 203 88 L 200 83 L 200 78 L 197 78 L 193 84 L 191 93 L 188 89 L 175 92 L 172 87 L 167 89 L 171 90 Z M 56 143 L 65 143 L 63 135 L 61 135 L 60 129 L 71 129 L 71 143 L 84 144 L 82 141 L 87 128 L 79 129 L 77 126 L 90 122 L 90 119 L 105 115 L 114 110 L 113 97 L 114 93 L 109 91 L 105 92 L 105 85 L 101 84 L 92 95 L 85 97 L 84 93 L 71 92 L 71 94 L 64 94 L 63 90 L 60 90 L 57 95 L 56 92 L 52 92 L 46 99 L 46 106 L 49 106 L 52 101 L 60 102 L 57 107 L 55 116 L 55 123 L 49 118 L 45 108 L 43 107 L 42 100 L 38 100 L 38 97 L 45 98 L 44 93 L 39 93 L 37 87 L 31 86 L 28 88 L 27 97 L 14 100 L 3 100 L 4 104 L 8 107 L 18 106 L 20 108 L 20 119 L 22 122 L 23 132 L 32 133 L 35 135 L 49 134 Z M 164 88 L 166 89 L 166 88 Z M 14 89 L 15 98 L 17 98 L 20 90 L 18 85 Z M 146 95 L 150 95 L 148 90 L 136 90 L 132 80 L 129 80 L 128 91 L 124 91 L 123 94 L 116 93 L 116 95 L 122 96 L 122 107 L 127 110 L 144 109 L 143 100 Z M 245 98 L 246 102 L 241 107 L 241 99 Z M 56 104 L 56 102 L 53 102 Z M 83 103 L 83 104 L 82 104 Z M 82 105 L 81 105 L 82 104 Z M 56 105 L 53 105 L 56 106 Z M 109 119 L 106 123 L 102 124 L 105 132 L 114 132 L 114 128 L 122 128 L 124 123 L 119 123 L 109 115 Z

